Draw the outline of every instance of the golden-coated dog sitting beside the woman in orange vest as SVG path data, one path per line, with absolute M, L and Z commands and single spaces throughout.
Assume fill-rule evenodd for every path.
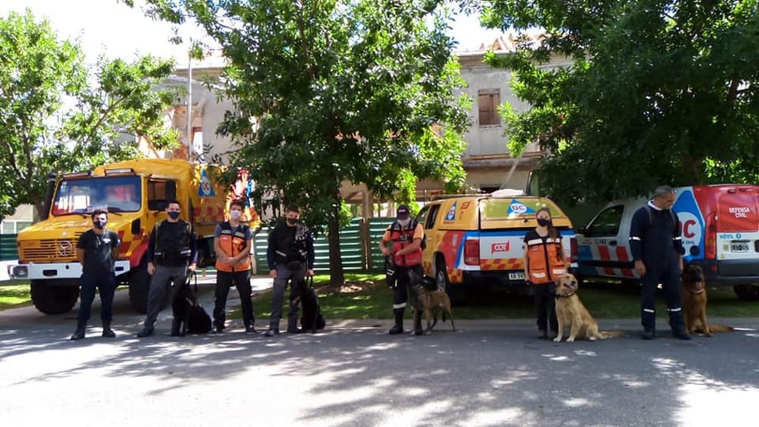
M 623 337 L 625 334 L 622 331 L 598 330 L 598 323 L 577 296 L 577 287 L 578 281 L 574 275 L 565 274 L 556 278 L 556 320 L 559 321 L 559 334 L 556 334 L 553 341 L 562 341 L 565 326 L 569 328 L 567 342 L 575 341 L 575 338 L 596 341 Z

